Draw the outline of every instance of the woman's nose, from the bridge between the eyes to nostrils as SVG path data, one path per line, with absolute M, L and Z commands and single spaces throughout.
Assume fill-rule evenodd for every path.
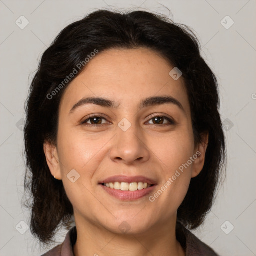
M 142 130 L 133 123 L 126 131 L 117 127 L 110 158 L 112 161 L 122 161 L 125 164 L 147 161 L 149 149 Z

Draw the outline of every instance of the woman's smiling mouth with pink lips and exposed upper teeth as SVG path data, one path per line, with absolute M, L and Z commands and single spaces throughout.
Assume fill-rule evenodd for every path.
M 109 177 L 98 184 L 109 195 L 126 201 L 136 200 L 149 194 L 157 185 L 154 180 L 143 176 L 123 175 Z

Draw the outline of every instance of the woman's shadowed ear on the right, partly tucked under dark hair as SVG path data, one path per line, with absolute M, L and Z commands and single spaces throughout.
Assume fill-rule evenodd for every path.
M 191 177 L 196 177 L 202 170 L 205 160 L 205 153 L 208 146 L 209 133 L 202 133 L 201 142 L 195 147 L 194 155 L 197 155 L 197 158 L 193 162 L 192 175 Z

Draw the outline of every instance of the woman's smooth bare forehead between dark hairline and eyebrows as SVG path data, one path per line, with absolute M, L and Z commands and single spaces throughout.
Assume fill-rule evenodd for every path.
M 173 68 L 161 55 L 147 48 L 105 50 L 90 59 L 70 82 L 61 104 L 70 110 L 81 98 L 91 96 L 114 99 L 121 108 L 164 94 L 189 108 L 182 76 L 174 80 L 169 75 Z

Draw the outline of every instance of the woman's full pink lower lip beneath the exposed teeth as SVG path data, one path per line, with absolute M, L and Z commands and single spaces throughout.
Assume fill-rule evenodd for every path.
M 139 199 L 147 194 L 149 194 L 150 192 L 152 192 L 152 190 L 154 189 L 155 185 L 150 186 L 148 188 L 143 188 L 141 190 L 136 190 L 136 191 L 122 191 L 122 190 L 117 190 L 114 188 L 110 188 L 104 185 L 101 185 L 102 188 L 110 195 L 112 195 L 113 197 L 120 199 L 120 200 L 125 200 L 125 201 L 133 201 L 136 199 Z

